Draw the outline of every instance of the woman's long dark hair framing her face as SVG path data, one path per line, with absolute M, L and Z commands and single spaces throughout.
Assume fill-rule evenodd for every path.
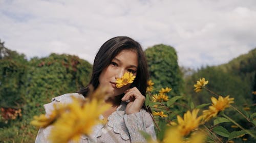
M 146 56 L 141 48 L 141 45 L 137 41 L 126 36 L 111 38 L 100 47 L 94 59 L 93 71 L 89 85 L 93 85 L 94 89 L 98 88 L 99 76 L 101 72 L 108 67 L 115 56 L 124 49 L 132 49 L 137 52 L 138 70 L 136 78 L 131 84 L 131 87 L 136 87 L 141 94 L 145 96 L 148 80 Z M 80 93 L 86 97 L 90 92 L 89 85 L 81 88 L 77 93 Z

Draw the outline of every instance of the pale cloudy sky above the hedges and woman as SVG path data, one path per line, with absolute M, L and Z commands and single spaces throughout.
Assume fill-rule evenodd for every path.
M 27 59 L 77 55 L 91 64 L 100 46 L 129 36 L 143 49 L 165 44 L 187 68 L 229 62 L 256 47 L 254 0 L 0 0 L 0 39 Z

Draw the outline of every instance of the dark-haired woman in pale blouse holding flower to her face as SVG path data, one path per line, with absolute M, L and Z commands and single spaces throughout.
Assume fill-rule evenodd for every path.
M 116 79 L 125 72 L 136 76 L 133 83 L 116 88 Z M 110 87 L 111 97 L 105 102 L 112 107 L 102 114 L 108 123 L 96 125 L 89 136 L 81 136 L 80 142 L 145 142 L 140 130 L 156 138 L 151 115 L 144 106 L 148 71 L 144 52 L 140 44 L 129 37 L 114 37 L 106 41 L 96 54 L 91 81 L 95 89 Z M 53 98 L 45 105 L 49 113 L 54 102 L 70 102 L 70 96 L 86 97 L 89 87 L 77 94 L 65 94 Z M 36 142 L 46 142 L 50 127 L 38 131 Z

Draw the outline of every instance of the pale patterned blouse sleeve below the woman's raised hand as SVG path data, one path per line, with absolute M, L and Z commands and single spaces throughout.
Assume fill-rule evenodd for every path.
M 140 131 L 144 131 L 156 139 L 155 125 L 150 113 L 141 109 L 140 112 L 124 115 L 124 122 L 129 130 L 131 142 L 146 142 Z

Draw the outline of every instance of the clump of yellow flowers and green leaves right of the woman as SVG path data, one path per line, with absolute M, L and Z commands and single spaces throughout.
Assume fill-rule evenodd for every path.
M 147 92 L 146 105 L 150 106 L 153 110 L 156 126 L 158 127 L 156 130 L 158 141 L 154 142 L 166 142 L 166 140 L 176 143 L 185 141 L 193 142 L 193 135 L 198 134 L 198 131 L 201 131 L 201 133 L 206 136 L 205 140 L 204 138 L 197 140 L 200 142 L 256 141 L 256 112 L 232 106 L 231 104 L 237 102 L 237 99 L 234 100 L 234 98 L 229 98 L 229 96 L 225 98 L 219 96 L 208 88 L 210 83 L 207 83 L 208 80 L 206 81 L 204 78 L 200 78 L 200 81 L 197 81 L 194 87 L 209 92 L 209 96 L 204 95 L 206 98 L 213 96 L 211 97 L 212 103 L 210 106 L 206 103 L 197 105 L 196 107 L 186 106 L 187 103 L 189 105 L 189 102 L 191 102 L 186 96 L 174 96 L 168 100 L 155 100 L 155 94 L 151 92 L 154 92 L 154 89 Z M 201 90 L 195 91 L 202 92 Z M 215 97 L 218 97 L 218 99 Z M 182 98 L 183 101 L 186 102 L 180 102 Z M 179 109 L 175 108 L 174 105 L 177 105 Z M 209 106 L 207 110 L 199 111 L 206 106 Z M 228 107 L 229 109 L 226 111 Z M 184 111 L 186 112 L 184 113 Z M 225 113 L 231 111 L 238 113 L 239 118 L 233 117 L 233 114 L 228 116 Z M 160 112 L 162 113 L 160 114 Z M 243 120 L 243 122 L 241 122 L 241 120 Z M 238 121 L 243 124 L 238 123 Z M 168 139 L 166 135 L 171 135 L 172 133 L 170 133 L 170 131 L 172 131 L 172 133 L 178 132 L 179 136 L 182 136 L 182 139 L 177 140 L 175 137 Z

